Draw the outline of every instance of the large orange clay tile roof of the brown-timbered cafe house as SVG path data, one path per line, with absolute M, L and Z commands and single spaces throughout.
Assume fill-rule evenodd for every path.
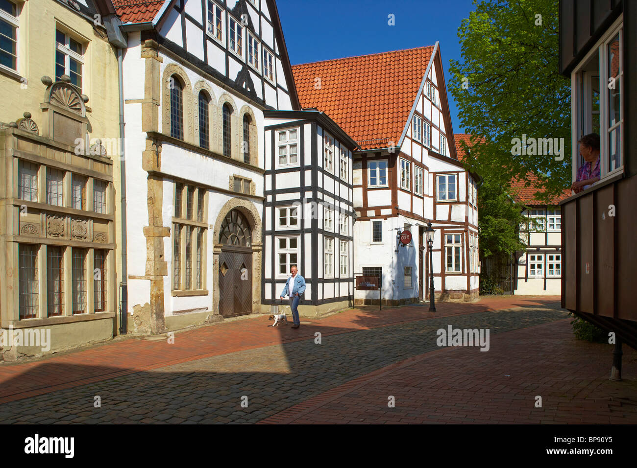
M 433 50 L 427 46 L 294 65 L 301 107 L 325 112 L 362 149 L 397 145 Z

